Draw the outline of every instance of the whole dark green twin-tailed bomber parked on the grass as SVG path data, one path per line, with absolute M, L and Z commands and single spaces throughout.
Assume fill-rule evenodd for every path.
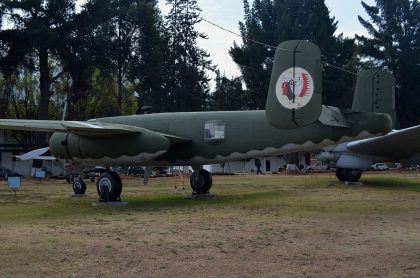
M 323 106 L 320 49 L 308 41 L 286 41 L 275 53 L 266 110 L 88 121 L 6 119 L 0 120 L 0 129 L 53 132 L 49 150 L 58 159 L 106 167 L 96 188 L 109 201 L 117 200 L 122 190 L 120 177 L 110 167 L 124 164 L 191 165 L 193 193 L 203 194 L 212 186 L 204 164 L 306 151 L 389 132 L 394 83 L 387 72 L 363 71 L 351 110 Z M 86 185 L 75 179 L 73 189 L 83 193 Z

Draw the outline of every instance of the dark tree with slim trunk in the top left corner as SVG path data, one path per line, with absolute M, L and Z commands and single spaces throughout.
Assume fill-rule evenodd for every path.
M 74 0 L 2 1 L 10 29 L 0 32 L 4 52 L 0 59 L 2 72 L 9 76 L 19 66 L 39 69 L 38 118 L 48 119 L 50 85 L 62 73 L 51 76 L 49 59 L 60 57 L 68 47 Z

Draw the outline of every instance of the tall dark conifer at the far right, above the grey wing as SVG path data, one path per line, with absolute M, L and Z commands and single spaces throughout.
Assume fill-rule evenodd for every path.
M 420 122 L 420 3 L 418 0 L 362 2 L 370 17 L 359 21 L 369 37 L 357 36 L 362 57 L 379 68 L 393 72 L 396 87 L 397 126 Z

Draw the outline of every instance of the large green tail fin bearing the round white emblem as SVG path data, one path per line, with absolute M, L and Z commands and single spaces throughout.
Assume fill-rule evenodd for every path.
M 268 122 L 290 129 L 316 121 L 322 110 L 321 51 L 308 41 L 277 47 L 266 103 Z

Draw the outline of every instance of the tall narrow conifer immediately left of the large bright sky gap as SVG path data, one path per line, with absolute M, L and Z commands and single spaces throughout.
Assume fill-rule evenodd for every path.
M 195 30 L 200 22 L 197 0 L 167 0 L 172 9 L 166 17 L 168 51 L 165 56 L 167 102 L 161 110 L 197 111 L 207 107 L 209 78 L 213 70 L 209 54 L 197 45 L 206 36 Z M 162 104 L 163 106 L 164 104 Z

